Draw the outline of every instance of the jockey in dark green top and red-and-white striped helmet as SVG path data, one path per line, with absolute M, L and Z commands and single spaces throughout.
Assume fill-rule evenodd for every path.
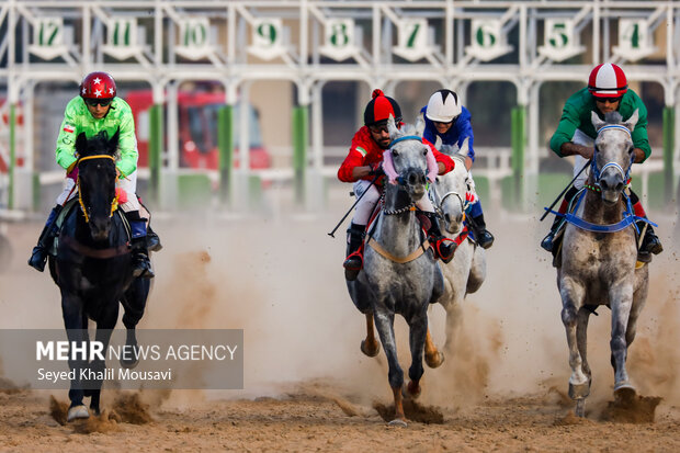
M 577 91 L 567 100 L 562 112 L 562 118 L 557 126 L 557 131 L 551 138 L 551 149 L 559 157 L 576 156 L 574 174 L 583 168 L 588 159 L 594 152 L 594 139 L 597 137 L 596 129 L 591 122 L 591 113 L 596 112 L 601 118 L 605 113 L 619 111 L 625 120 L 638 111 L 639 118 L 632 131 L 635 163 L 642 163 L 651 154 L 649 141 L 647 139 L 647 109 L 637 93 L 628 89 L 625 73 L 613 64 L 598 65 L 590 72 L 588 79 L 588 88 Z M 567 212 L 569 202 L 583 188 L 588 179 L 590 169 L 586 169 L 581 175 L 576 179 L 574 186 L 565 194 L 559 207 L 559 213 Z M 635 215 L 646 217 L 645 209 L 639 202 L 639 197 L 630 190 L 631 204 Z M 541 242 L 547 251 L 553 251 L 553 239 L 563 224 L 563 217 L 556 216 L 549 234 Z M 645 226 L 644 220 L 637 222 L 637 227 Z M 638 250 L 638 260 L 648 262 L 651 259 L 650 253 L 658 254 L 664 250 L 661 241 L 654 234 L 651 225 L 647 225 L 645 237 Z

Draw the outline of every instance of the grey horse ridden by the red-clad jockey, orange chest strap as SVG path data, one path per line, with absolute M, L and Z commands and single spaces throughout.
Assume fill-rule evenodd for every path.
M 443 292 L 443 275 L 416 217 L 415 204 L 426 196 L 427 179 L 437 177 L 437 162 L 422 143 L 424 123 L 399 131 L 390 116 L 387 122 L 390 149 L 384 154 L 385 183 L 382 212 L 369 228 L 363 271 L 348 281 L 352 302 L 366 316 L 366 338 L 361 350 L 369 356 L 379 352 L 373 325 L 377 328 L 389 364 L 388 381 L 394 394 L 393 426 L 407 426 L 403 392 L 420 395 L 422 355 L 428 332 L 428 306 Z M 409 326 L 410 382 L 404 387 L 404 372 L 397 359 L 394 333 L 395 314 Z M 437 351 L 434 351 L 437 353 Z

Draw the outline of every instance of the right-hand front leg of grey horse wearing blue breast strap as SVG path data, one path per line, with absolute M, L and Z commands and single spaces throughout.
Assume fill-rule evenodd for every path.
M 616 395 L 635 394 L 635 387 L 628 381 L 628 373 L 625 369 L 627 356 L 627 335 L 626 328 L 633 306 L 633 284 L 626 282 L 616 285 L 610 291 L 612 308 L 612 338 L 610 347 L 612 350 L 612 365 L 614 366 L 614 393 Z

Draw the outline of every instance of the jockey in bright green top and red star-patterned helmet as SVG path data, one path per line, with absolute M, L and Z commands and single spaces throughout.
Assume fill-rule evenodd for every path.
M 116 159 L 116 188 L 127 192 L 127 202 L 121 204 L 125 217 L 132 229 L 132 250 L 134 275 L 147 279 L 154 278 L 147 249 L 146 219 L 139 216 L 140 203 L 137 199 L 137 139 L 133 112 L 124 100 L 116 98 L 115 80 L 106 72 L 91 72 L 80 83 L 80 95 L 71 99 L 66 106 L 64 122 L 57 137 L 56 159 L 67 171 L 64 192 L 57 197 L 57 206 L 52 209 L 37 246 L 29 260 L 29 265 L 43 272 L 47 253 L 54 237 L 57 235 L 55 220 L 69 194 L 76 185 L 78 156 L 75 155 L 76 137 L 80 133 L 92 137 L 101 131 L 113 136 L 120 129 L 118 157 Z M 160 250 L 160 242 L 149 229 L 149 246 L 151 250 Z

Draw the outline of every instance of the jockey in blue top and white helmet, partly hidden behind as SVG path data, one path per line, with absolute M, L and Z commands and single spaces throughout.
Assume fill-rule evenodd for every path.
M 467 169 L 468 179 L 472 182 L 474 192 L 475 183 L 471 168 L 475 161 L 475 149 L 473 148 L 473 126 L 471 124 L 471 114 L 467 109 L 461 105 L 457 94 L 451 90 L 439 90 L 430 97 L 428 105 L 420 110 L 423 114 L 426 128 L 422 137 L 431 143 L 437 143 L 440 138 L 443 145 L 456 145 L 458 148 L 469 138 L 468 151 L 465 157 L 465 168 Z M 475 193 L 475 202 L 469 207 L 472 217 L 471 226 L 474 228 L 475 238 L 479 246 L 488 249 L 494 244 L 494 235 L 486 229 L 484 222 L 484 212 L 481 203 Z

